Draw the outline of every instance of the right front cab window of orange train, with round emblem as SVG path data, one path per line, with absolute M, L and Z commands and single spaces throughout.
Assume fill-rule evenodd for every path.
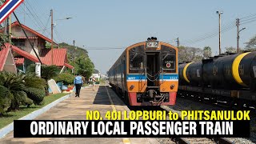
M 165 73 L 176 72 L 176 50 L 162 46 L 162 69 Z

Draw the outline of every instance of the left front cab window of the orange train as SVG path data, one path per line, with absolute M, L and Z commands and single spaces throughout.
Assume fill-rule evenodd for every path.
M 139 73 L 144 70 L 144 46 L 137 46 L 129 50 L 129 72 Z

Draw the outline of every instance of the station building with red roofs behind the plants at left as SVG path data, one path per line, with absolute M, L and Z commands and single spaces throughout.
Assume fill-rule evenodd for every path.
M 54 48 L 51 50 L 50 48 L 46 48 L 46 43 L 51 43 L 50 38 L 46 38 L 46 36 L 39 34 L 28 26 L 22 25 L 21 27 L 18 22 L 14 22 L 10 26 L 12 44 L 6 43 L 3 47 L 8 47 L 8 50 L 12 51 L 14 58 L 12 62 L 15 63 L 18 71 L 26 72 L 27 66 L 39 62 L 36 54 L 38 54 L 44 65 L 55 65 L 62 69 L 62 71 L 66 68 L 74 69 L 74 66 L 71 66 L 67 62 L 67 50 L 65 48 Z M 26 39 L 26 35 L 23 33 L 22 28 L 25 30 L 34 50 L 30 46 L 30 42 Z M 3 32 L 4 29 L 0 30 L 0 33 Z M 58 47 L 56 42 L 53 43 L 54 47 Z M 3 52 L 7 54 L 6 51 Z M 4 54 L 3 52 L 2 54 Z M 8 58 L 10 58 L 10 56 L 8 56 Z M 12 71 L 14 71 L 14 69 L 12 69 Z

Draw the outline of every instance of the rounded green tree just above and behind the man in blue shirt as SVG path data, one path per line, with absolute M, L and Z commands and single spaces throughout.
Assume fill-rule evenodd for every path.
M 75 70 L 77 74 L 81 74 L 85 78 L 90 78 L 94 72 L 94 63 L 90 58 L 80 56 L 75 59 Z

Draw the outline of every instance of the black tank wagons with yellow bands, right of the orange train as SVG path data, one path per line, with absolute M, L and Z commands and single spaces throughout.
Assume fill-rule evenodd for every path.
M 256 106 L 256 52 L 220 54 L 178 66 L 178 94 L 227 106 Z

